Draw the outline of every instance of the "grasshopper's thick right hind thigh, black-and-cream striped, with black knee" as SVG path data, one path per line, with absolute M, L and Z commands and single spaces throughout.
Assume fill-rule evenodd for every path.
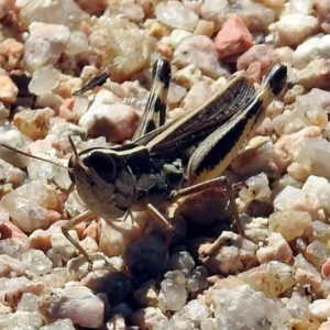
M 227 168 L 244 145 L 253 128 L 261 123 L 265 109 L 285 87 L 287 68 L 275 65 L 263 79 L 261 88 L 243 111 L 210 134 L 189 160 L 187 176 L 190 184 L 215 178 Z

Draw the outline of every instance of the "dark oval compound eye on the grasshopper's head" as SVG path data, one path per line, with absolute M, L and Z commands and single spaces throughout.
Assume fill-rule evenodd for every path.
M 84 163 L 105 182 L 113 182 L 117 167 L 110 155 L 102 152 L 92 152 L 88 158 L 84 160 Z

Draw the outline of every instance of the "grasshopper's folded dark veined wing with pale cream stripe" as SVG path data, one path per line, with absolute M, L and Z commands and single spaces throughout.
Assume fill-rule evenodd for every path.
M 202 107 L 189 111 L 157 132 L 145 136 L 144 145 L 153 158 L 178 154 L 187 146 L 200 142 L 229 118 L 241 111 L 255 94 L 252 82 L 239 76 L 229 81 Z M 151 139 L 150 139 L 151 138 Z M 139 144 L 141 141 L 139 141 Z

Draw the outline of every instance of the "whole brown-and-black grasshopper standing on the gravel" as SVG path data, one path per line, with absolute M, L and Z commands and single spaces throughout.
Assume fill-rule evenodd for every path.
M 265 109 L 287 80 L 285 65 L 273 66 L 255 91 L 244 76 L 232 78 L 206 105 L 165 123 L 170 65 L 158 59 L 153 69 L 155 85 L 133 141 L 118 147 L 92 147 L 74 154 L 68 174 L 88 211 L 63 226 L 64 235 L 88 261 L 92 257 L 70 237 L 69 229 L 96 217 L 116 220 L 132 210 L 146 210 L 167 233 L 160 265 L 164 264 L 174 228 L 160 211 L 164 205 L 206 189 L 227 187 L 237 229 L 244 234 L 231 186 L 220 176 L 244 145 Z M 84 90 L 82 90 L 84 91 Z M 176 160 L 199 144 L 186 170 Z M 183 182 L 188 187 L 182 188 Z

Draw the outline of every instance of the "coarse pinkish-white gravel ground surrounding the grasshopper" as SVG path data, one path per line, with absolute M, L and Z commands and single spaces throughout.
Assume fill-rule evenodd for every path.
M 0 329 L 330 329 L 330 1 L 0 1 Z M 169 61 L 167 121 L 230 77 L 257 89 L 283 63 L 288 84 L 221 189 L 163 210 L 98 219 L 66 166 L 78 151 L 129 143 Z M 92 77 L 109 78 L 79 96 Z M 188 152 L 187 152 L 188 155 Z M 131 219 L 133 218 L 133 219 Z M 107 262 L 105 262 L 107 261 Z

